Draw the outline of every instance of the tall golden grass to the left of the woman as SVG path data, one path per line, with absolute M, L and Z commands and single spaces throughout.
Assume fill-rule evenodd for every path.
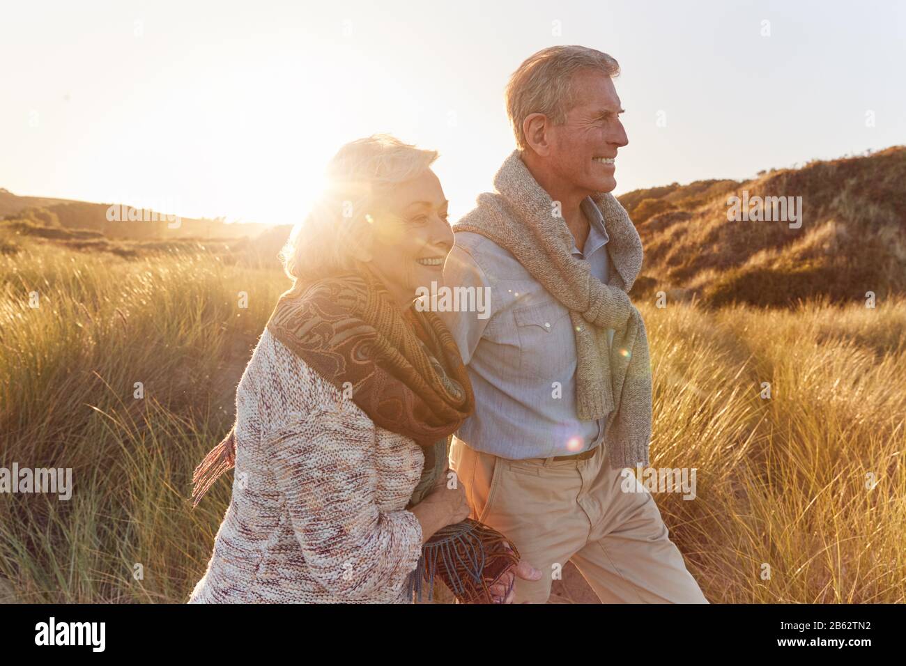
M 27 602 L 181 601 L 229 494 L 192 512 L 191 471 L 285 278 L 22 243 L 0 255 L 0 467 L 72 468 L 73 492 L 0 496 L 0 579 Z

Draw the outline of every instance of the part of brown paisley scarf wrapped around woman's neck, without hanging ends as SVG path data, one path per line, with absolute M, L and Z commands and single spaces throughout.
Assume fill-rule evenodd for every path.
M 360 275 L 300 291 L 281 296 L 267 330 L 381 428 L 429 447 L 475 409 L 457 344 L 437 314 L 410 308 L 403 316 L 377 281 Z

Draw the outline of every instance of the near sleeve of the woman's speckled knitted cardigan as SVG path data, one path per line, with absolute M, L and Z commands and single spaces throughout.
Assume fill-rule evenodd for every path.
M 374 423 L 340 400 L 284 420 L 267 438 L 294 535 L 318 583 L 350 600 L 401 590 L 418 564 L 421 526 L 410 511 L 377 506 Z

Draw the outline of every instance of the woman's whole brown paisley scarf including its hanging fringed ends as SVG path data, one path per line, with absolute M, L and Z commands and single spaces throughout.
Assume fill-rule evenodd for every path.
M 425 464 L 407 508 L 448 468 L 451 434 L 475 409 L 456 342 L 437 314 L 405 312 L 377 281 L 336 275 L 283 294 L 267 330 L 381 428 L 413 439 Z M 195 469 L 195 506 L 236 462 L 235 426 Z M 469 602 L 518 563 L 503 535 L 476 521 L 447 526 L 423 546 L 410 592 L 421 600 L 437 575 Z

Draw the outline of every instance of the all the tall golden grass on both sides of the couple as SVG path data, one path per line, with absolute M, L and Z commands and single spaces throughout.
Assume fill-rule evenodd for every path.
M 232 421 L 285 278 L 15 242 L 0 254 L 0 467 L 72 468 L 74 488 L 0 496 L 0 595 L 184 602 L 230 492 L 221 480 L 192 511 L 191 472 Z M 651 464 L 697 469 L 695 499 L 656 498 L 708 599 L 906 601 L 906 301 L 641 307 Z

